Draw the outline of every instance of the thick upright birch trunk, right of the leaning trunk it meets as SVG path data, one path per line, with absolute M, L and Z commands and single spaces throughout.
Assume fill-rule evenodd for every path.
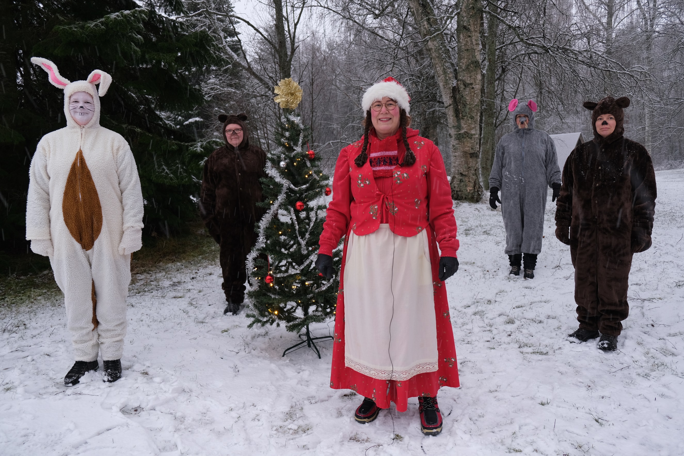
M 456 41 L 458 46 L 458 76 L 456 79 L 456 112 L 460 153 L 454 156 L 451 196 L 455 200 L 479 202 L 479 109 L 482 84 L 480 68 L 479 25 L 482 1 L 462 0 Z

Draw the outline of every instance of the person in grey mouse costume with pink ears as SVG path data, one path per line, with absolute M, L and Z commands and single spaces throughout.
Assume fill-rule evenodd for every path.
M 537 104 L 529 100 L 521 105 L 514 99 L 508 110 L 513 112 L 516 128 L 503 135 L 497 145 L 489 176 L 489 204 L 492 209 L 497 209 L 497 202 L 501 204 L 510 273 L 518 276 L 525 260 L 524 277 L 532 279 L 537 255 L 542 251 L 547 189 L 553 188 L 555 201 L 561 173 L 553 139 L 534 128 Z

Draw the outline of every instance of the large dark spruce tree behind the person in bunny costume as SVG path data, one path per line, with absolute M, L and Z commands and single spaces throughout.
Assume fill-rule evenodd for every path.
M 169 234 L 196 217 L 191 196 L 211 148 L 198 147 L 198 123 L 185 123 L 198 116 L 205 103 L 200 83 L 220 62 L 214 39 L 190 30 L 181 14 L 179 0 L 0 2 L 2 250 L 26 252 L 31 157 L 43 135 L 66 124 L 64 93 L 29 62 L 33 56 L 55 62 L 70 81 L 96 68 L 112 76 L 100 122 L 131 145 L 148 234 Z

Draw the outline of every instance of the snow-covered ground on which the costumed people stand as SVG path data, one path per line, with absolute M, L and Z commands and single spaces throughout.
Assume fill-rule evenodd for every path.
M 306 348 L 282 358 L 295 334 L 224 316 L 218 265 L 179 264 L 131 288 L 114 384 L 99 372 L 62 383 L 72 358 L 61 296 L 0 309 L 0 453 L 684 455 L 684 171 L 657 179 L 653 247 L 634 257 L 616 353 L 566 340 L 573 268 L 550 192 L 531 281 L 508 276 L 500 211 L 458 205 L 461 267 L 447 290 L 462 386 L 440 391 L 438 437 L 421 434 L 416 399 L 355 423 L 360 397 L 328 386 L 332 342 L 322 360 Z

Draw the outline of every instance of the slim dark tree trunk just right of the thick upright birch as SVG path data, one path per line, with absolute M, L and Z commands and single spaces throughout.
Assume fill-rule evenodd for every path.
M 499 8 L 494 3 L 489 4 L 489 10 L 498 14 Z M 492 16 L 487 20 L 485 59 L 487 68 L 484 70 L 484 99 L 482 100 L 482 143 L 479 158 L 480 172 L 482 173 L 482 186 L 489 189 L 489 173 L 492 172 L 492 163 L 496 149 L 496 96 L 497 79 L 497 18 Z

